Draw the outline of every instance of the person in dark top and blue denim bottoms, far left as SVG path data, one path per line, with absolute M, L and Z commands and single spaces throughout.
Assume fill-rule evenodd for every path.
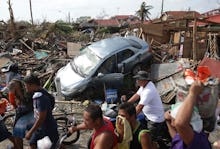
M 26 131 L 34 124 L 32 95 L 27 94 L 24 83 L 18 79 L 12 79 L 8 85 L 9 92 L 15 96 L 15 122 L 13 126 L 13 137 L 17 149 L 23 149 L 23 138 Z

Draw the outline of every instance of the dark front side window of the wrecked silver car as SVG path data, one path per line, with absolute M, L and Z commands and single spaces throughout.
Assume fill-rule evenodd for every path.
M 98 69 L 98 73 L 103 73 L 103 74 L 114 73 L 114 72 L 117 72 L 115 55 L 105 60 L 105 62 Z

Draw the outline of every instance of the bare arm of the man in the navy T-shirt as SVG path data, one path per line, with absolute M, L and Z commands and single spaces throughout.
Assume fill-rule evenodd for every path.
M 44 122 L 47 116 L 47 111 L 39 112 L 39 118 L 35 121 L 32 128 L 27 132 L 25 138 L 29 140 L 33 134 Z

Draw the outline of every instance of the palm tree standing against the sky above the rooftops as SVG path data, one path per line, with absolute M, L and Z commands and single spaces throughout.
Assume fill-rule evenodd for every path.
M 137 15 L 138 17 L 140 17 L 142 23 L 144 22 L 144 20 L 145 20 L 146 18 L 148 18 L 149 20 L 151 20 L 150 17 L 149 17 L 149 15 L 151 15 L 151 13 L 149 12 L 149 10 L 152 9 L 152 8 L 153 8 L 153 6 L 151 6 L 151 5 L 146 5 L 145 2 L 142 2 L 141 8 L 140 8 L 138 11 L 136 11 L 136 15 Z

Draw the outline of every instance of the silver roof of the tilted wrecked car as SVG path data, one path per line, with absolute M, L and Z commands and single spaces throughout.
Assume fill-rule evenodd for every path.
M 88 46 L 88 48 L 100 58 L 104 58 L 107 55 L 120 49 L 125 49 L 126 47 L 142 49 L 143 47 L 147 47 L 147 43 L 137 37 L 112 37 L 100 40 Z

